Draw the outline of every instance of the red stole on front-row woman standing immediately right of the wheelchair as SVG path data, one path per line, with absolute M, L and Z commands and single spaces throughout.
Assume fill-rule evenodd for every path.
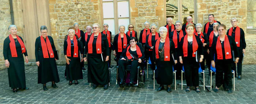
M 155 43 L 155 56 L 157 59 L 159 59 L 159 43 L 161 38 L 157 39 L 157 42 Z M 170 61 L 170 39 L 168 37 L 165 38 L 165 45 L 164 45 L 164 51 L 165 51 L 165 59 L 164 61 Z

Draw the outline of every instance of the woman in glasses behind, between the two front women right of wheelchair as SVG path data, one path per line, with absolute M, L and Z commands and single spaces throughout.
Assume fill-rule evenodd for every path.
M 180 43 L 181 38 L 186 35 L 186 32 L 181 30 L 181 24 L 182 23 L 180 21 L 176 21 L 176 23 L 175 23 L 176 30 L 171 32 L 171 34 L 169 36 L 169 38 L 173 40 L 174 45 L 175 45 L 175 49 L 177 51 L 178 51 L 178 45 Z M 181 78 L 182 67 L 183 67 L 183 64 L 180 63 L 180 59 L 178 58 L 177 63 L 173 66 L 174 70 L 176 70 L 176 78 L 177 79 Z M 185 77 L 183 77 L 182 80 L 185 80 Z

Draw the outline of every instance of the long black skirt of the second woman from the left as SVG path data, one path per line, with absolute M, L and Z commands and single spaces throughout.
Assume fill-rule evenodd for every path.
M 39 51 L 40 52 L 40 51 Z M 43 54 L 39 53 L 39 67 L 38 67 L 38 84 L 45 84 L 54 81 L 60 82 L 59 73 L 55 58 L 44 58 Z

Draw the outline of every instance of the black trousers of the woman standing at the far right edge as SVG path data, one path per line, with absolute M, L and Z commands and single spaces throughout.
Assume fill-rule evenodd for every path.
M 239 61 L 237 63 L 237 71 L 236 71 L 236 63 L 233 63 L 233 70 L 235 71 L 235 76 L 241 76 L 242 75 L 242 60 L 244 58 L 243 56 L 243 50 L 239 49 Z

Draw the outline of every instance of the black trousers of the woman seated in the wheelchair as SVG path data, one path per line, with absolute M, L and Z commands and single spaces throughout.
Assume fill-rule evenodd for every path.
M 138 72 L 138 60 L 133 60 L 133 61 L 125 61 L 125 60 L 119 60 L 118 61 L 118 75 L 120 79 L 125 79 L 125 67 L 127 65 L 131 65 L 131 72 L 130 72 L 130 80 L 134 80 L 135 76 L 137 75 Z

